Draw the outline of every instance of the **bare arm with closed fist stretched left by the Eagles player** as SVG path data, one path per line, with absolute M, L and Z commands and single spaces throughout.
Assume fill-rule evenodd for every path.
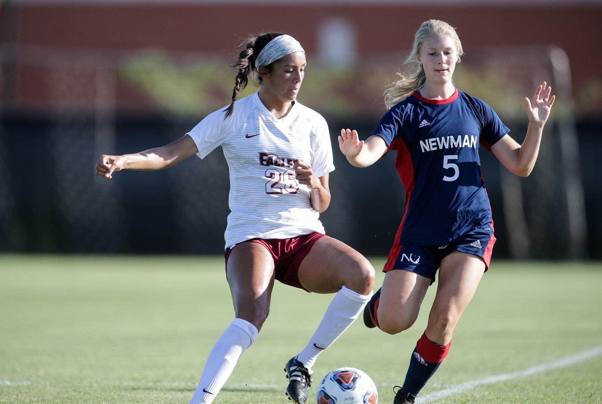
M 96 163 L 96 175 L 111 179 L 113 173 L 119 170 L 163 170 L 175 166 L 197 152 L 194 140 L 190 136 L 184 135 L 169 145 L 140 153 L 120 156 L 104 154 Z

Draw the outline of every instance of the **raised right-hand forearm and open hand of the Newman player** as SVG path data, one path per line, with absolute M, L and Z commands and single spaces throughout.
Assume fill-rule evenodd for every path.
M 544 131 L 545 122 L 550 117 L 550 110 L 556 96 L 551 96 L 551 87 L 545 87 L 545 81 L 535 90 L 533 101 L 525 98 L 529 127 L 522 145 L 506 135 L 491 146 L 495 157 L 501 161 L 510 172 L 523 177 L 528 176 L 535 166 L 539 154 L 541 135 Z

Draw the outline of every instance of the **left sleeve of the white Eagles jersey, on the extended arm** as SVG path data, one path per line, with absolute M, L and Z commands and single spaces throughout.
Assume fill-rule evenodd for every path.
M 196 155 L 200 158 L 205 158 L 234 132 L 237 119 L 234 115 L 224 119 L 225 116 L 223 108 L 217 110 L 206 116 L 187 133 L 194 140 L 199 151 Z

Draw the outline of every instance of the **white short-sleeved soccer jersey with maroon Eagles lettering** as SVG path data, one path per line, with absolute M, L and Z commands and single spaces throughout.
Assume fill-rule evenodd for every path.
M 311 164 L 315 176 L 335 169 L 326 120 L 295 102 L 276 119 L 257 93 L 236 102 L 232 116 L 209 114 L 187 133 L 204 158 L 222 146 L 230 172 L 226 247 L 250 238 L 291 238 L 324 233 L 311 207 L 308 185 L 295 179 L 293 164 Z

